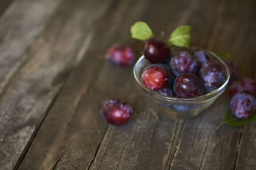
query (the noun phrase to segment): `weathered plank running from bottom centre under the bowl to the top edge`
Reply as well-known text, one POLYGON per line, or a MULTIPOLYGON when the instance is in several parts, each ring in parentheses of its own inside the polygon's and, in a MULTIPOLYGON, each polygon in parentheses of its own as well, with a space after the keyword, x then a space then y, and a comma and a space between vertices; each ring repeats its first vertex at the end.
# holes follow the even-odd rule
MULTIPOLYGON (((173 30, 180 24, 190 24, 194 28, 200 29, 200 31, 194 32, 193 43, 204 47, 213 24, 217 3, 217 1, 191 1, 191 3, 187 3, 185 0, 169 3, 151 1, 143 20, 147 21, 156 34, 160 34, 162 30, 167 34, 170 31, 166 30, 173 30), (201 8, 210 12, 205 15, 201 8), (160 17, 151 15, 152 10, 168 12, 161 13, 160 17), (177 13, 180 14, 180 18, 175 17, 177 13), (198 18, 204 19, 198 20, 198 18), (204 30, 203 28, 208 31, 201 31, 204 30)), ((168 36, 167 34, 166 37, 168 36)), ((145 104, 146 101, 136 89, 135 84, 133 84, 128 88, 127 94, 127 101, 136 103, 134 104, 136 108, 134 119, 122 127, 108 127, 90 169, 170 169, 183 129, 183 121, 170 120, 167 116, 160 115, 161 121, 157 122, 151 114, 150 106, 145 104)))

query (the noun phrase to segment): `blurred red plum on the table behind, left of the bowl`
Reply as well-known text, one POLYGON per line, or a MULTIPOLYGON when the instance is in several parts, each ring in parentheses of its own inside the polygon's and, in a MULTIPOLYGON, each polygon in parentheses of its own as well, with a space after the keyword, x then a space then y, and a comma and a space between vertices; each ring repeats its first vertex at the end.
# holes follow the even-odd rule
POLYGON ((131 65, 135 59, 135 52, 127 45, 115 44, 108 49, 106 58, 114 65, 131 65))

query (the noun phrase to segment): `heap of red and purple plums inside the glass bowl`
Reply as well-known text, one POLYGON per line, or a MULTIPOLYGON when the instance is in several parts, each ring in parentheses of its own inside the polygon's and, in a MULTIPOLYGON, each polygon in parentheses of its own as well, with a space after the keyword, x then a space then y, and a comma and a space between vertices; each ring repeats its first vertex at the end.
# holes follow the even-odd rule
POLYGON ((141 81, 146 88, 163 95, 202 96, 221 87, 227 78, 225 66, 199 49, 172 55, 165 42, 152 38, 145 42, 143 54, 153 65, 145 69, 141 81))

